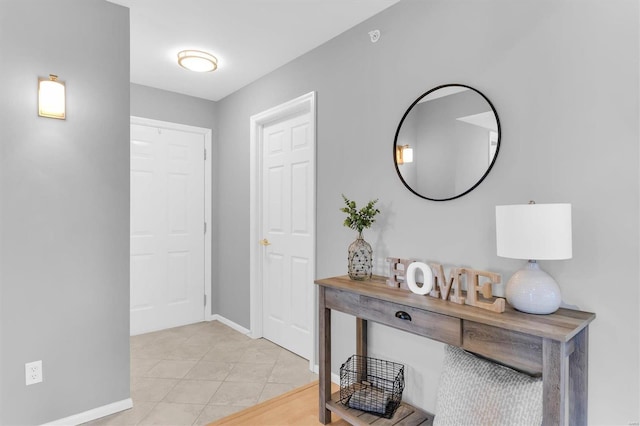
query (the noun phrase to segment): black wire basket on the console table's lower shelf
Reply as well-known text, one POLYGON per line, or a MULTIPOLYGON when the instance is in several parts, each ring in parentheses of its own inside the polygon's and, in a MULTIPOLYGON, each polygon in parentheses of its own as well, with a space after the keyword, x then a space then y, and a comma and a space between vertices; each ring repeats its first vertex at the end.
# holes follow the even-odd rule
POLYGON ((340 402, 390 419, 400 406, 404 365, 352 355, 340 367, 340 402))

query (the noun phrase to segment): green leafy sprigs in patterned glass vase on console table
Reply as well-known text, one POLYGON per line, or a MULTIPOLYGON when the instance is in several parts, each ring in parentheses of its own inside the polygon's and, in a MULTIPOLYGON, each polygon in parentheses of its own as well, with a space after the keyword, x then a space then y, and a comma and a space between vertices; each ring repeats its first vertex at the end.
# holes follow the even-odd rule
POLYGON ((355 201, 349 200, 342 194, 345 207, 340 209, 347 214, 344 226, 358 231, 358 238, 349 245, 348 274, 352 280, 367 280, 371 278, 373 270, 373 250, 371 245, 362 237, 362 231, 368 229, 376 221, 375 216, 380 213, 375 205, 378 199, 371 200, 366 206, 358 210, 355 201))

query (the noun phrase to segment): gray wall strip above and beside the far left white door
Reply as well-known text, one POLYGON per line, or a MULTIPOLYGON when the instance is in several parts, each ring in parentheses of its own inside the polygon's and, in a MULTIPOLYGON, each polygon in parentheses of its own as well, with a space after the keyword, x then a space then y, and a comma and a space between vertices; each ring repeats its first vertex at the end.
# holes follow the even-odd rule
POLYGON ((189 126, 203 127, 211 129, 212 151, 209 153, 213 160, 213 170, 211 179, 212 188, 212 221, 210 224, 209 237, 211 244, 211 313, 218 312, 217 296, 217 272, 218 272, 218 221, 216 212, 218 210, 218 191, 220 176, 218 175, 217 163, 218 154, 218 113, 216 102, 193 96, 182 95, 180 93, 169 92, 154 87, 131 84, 131 115, 135 117, 151 118, 153 120, 168 121, 171 123, 186 124, 189 126))

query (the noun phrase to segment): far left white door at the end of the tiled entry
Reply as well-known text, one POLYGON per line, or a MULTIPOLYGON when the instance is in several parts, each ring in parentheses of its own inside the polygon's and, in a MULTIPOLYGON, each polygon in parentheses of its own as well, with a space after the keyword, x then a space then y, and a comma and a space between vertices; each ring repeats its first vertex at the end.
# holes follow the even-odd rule
POLYGON ((131 124, 131 334, 204 319, 204 136, 131 124))

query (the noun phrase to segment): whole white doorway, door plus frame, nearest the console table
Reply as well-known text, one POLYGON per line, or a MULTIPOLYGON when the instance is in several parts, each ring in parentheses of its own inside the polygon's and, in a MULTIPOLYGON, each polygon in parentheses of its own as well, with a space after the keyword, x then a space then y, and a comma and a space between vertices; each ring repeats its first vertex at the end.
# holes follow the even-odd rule
POLYGON ((251 336, 312 363, 315 92, 251 117, 251 336))

